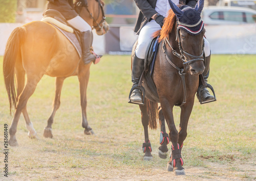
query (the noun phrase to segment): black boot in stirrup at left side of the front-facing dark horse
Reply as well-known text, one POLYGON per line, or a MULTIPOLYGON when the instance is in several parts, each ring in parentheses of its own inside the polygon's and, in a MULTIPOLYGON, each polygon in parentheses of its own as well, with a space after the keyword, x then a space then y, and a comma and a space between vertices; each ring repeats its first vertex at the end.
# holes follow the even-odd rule
MULTIPOLYGON (((144 59, 138 58, 134 53, 132 61, 132 82, 134 86, 139 84, 140 76, 144 70, 144 59)), ((139 89, 134 89, 131 93, 130 100, 135 104, 143 104, 142 92, 139 89)))

